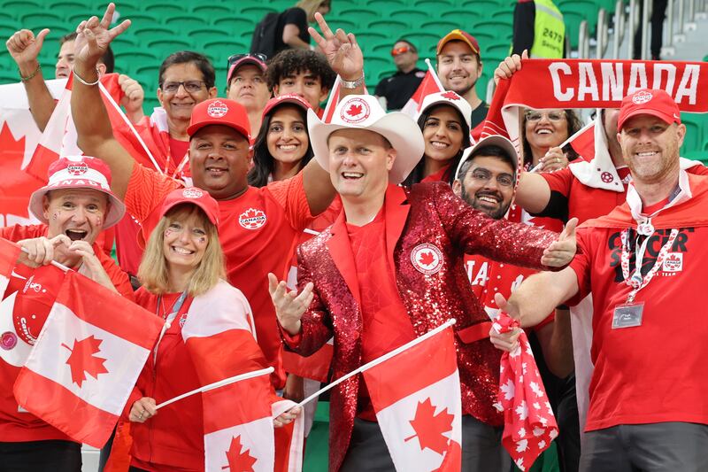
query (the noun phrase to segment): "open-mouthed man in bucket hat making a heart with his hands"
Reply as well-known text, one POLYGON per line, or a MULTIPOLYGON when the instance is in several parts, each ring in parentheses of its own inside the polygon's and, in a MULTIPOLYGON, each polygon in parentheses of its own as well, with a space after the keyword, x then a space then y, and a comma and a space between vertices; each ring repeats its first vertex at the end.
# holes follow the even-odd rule
POLYGON ((133 298, 127 275, 95 244, 125 206, 111 189, 111 171, 99 159, 62 158, 49 182, 30 197, 42 224, 0 228, 23 248, 0 309, 0 460, 9 470, 81 470, 81 445, 18 406, 12 385, 42 330, 61 284, 57 261, 109 290, 133 298), (33 268, 34 267, 34 268, 33 268))

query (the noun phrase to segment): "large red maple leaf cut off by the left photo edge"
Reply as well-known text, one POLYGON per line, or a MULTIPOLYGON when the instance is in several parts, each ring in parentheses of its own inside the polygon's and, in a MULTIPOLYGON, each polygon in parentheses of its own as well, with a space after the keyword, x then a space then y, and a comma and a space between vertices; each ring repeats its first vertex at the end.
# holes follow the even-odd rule
POLYGON ((0 129, 0 213, 27 218, 27 201, 42 182, 21 169, 25 136, 15 139, 7 123, 0 129))

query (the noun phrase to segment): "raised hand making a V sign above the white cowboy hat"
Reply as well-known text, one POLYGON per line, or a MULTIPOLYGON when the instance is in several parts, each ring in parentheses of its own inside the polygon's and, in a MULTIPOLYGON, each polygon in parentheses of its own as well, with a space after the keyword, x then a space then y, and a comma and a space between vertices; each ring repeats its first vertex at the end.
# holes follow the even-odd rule
POLYGON ((345 81, 356 81, 364 74, 364 55, 359 48, 357 38, 352 33, 345 33, 338 28, 335 33, 327 25, 320 13, 315 13, 315 19, 322 30, 319 35, 313 27, 308 28, 310 35, 325 55, 329 66, 345 81))

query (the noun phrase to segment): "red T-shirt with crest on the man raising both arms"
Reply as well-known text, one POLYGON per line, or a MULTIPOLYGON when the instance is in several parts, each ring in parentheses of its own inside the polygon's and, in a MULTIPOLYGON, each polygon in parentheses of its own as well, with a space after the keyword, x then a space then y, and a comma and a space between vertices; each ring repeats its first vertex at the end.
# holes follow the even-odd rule
MULTIPOLYGON (((155 210, 165 195, 180 186, 181 182, 135 165, 125 198, 127 210, 143 226, 154 228, 158 221, 155 210)), ((276 389, 284 384, 285 375, 267 275, 272 272, 281 280, 286 277, 297 238, 311 221, 302 173, 261 189, 249 187, 231 200, 219 200, 219 241, 227 259, 228 282, 249 300, 258 345, 268 365, 275 368, 276 389)))

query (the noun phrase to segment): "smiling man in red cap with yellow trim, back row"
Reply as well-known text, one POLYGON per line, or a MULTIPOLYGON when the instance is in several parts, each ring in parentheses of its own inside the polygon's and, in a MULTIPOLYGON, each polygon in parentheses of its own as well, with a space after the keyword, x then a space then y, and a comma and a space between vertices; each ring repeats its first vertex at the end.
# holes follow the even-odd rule
POLYGON ((472 128, 484 121, 489 109, 475 89, 481 66, 480 43, 466 31, 453 29, 437 43, 437 74, 446 90, 457 92, 472 107, 472 128))

